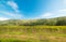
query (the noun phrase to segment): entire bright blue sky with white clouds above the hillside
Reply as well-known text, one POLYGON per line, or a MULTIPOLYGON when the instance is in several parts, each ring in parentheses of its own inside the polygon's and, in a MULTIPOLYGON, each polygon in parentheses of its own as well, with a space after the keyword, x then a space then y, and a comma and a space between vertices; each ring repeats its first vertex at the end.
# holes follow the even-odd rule
POLYGON ((0 0, 0 20, 66 16, 66 0, 0 0))

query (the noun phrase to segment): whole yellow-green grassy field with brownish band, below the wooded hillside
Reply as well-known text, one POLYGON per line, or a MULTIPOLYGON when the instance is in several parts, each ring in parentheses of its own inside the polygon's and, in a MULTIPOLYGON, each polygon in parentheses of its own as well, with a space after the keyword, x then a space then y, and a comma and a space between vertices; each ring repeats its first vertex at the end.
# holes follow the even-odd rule
POLYGON ((0 26, 0 42, 66 42, 66 26, 0 26))

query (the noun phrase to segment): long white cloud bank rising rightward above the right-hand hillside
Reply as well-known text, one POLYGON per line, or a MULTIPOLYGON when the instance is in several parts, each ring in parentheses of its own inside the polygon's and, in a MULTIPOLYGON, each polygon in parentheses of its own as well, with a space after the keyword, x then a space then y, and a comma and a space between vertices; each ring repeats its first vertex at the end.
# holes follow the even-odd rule
POLYGON ((61 16, 66 16, 66 9, 43 13, 35 18, 53 18, 53 17, 61 17, 61 16))

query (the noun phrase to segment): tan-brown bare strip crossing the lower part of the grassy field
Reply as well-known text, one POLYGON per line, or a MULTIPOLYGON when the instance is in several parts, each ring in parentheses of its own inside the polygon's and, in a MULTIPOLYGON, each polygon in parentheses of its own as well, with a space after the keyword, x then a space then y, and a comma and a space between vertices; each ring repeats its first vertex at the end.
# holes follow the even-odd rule
POLYGON ((66 42, 66 37, 55 37, 55 36, 26 36, 26 34, 0 34, 0 39, 18 39, 18 40, 51 40, 57 42, 66 42))

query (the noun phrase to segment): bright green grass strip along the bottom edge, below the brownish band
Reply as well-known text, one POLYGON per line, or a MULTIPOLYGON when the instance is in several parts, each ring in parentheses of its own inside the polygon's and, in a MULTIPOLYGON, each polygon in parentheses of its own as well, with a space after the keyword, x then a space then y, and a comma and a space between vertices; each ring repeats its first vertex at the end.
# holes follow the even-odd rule
POLYGON ((9 40, 0 40, 0 42, 48 42, 48 40, 13 40, 13 39, 9 39, 9 40))

